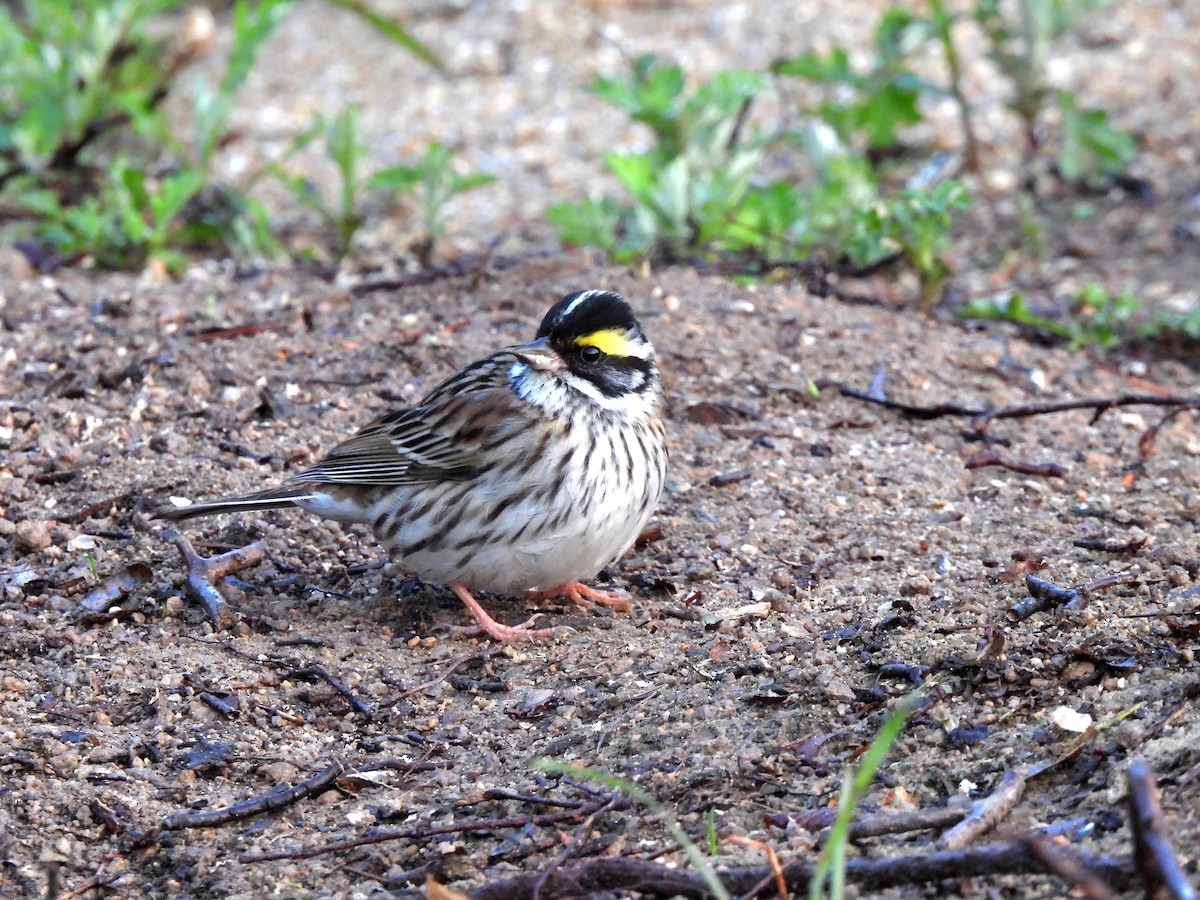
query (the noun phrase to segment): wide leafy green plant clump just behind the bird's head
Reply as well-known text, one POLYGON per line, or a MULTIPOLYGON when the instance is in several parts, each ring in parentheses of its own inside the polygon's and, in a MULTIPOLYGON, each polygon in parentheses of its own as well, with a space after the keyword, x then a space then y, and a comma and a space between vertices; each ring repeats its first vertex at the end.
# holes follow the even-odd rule
POLYGON ((899 254, 917 271, 923 294, 934 295, 949 271, 942 252, 950 214, 965 205, 966 192, 947 185, 928 196, 887 197, 866 155, 919 118, 917 100, 928 86, 905 60, 926 32, 893 10, 880 23, 877 60, 868 71, 852 68, 839 49, 778 64, 776 73, 848 86, 852 96, 817 104, 817 120, 803 130, 749 137, 742 131, 763 74, 725 72, 689 91, 678 66, 643 56, 629 76, 594 85, 654 138, 648 151, 606 157, 632 203, 590 198, 558 204, 547 216, 565 241, 602 247, 626 263, 822 254, 863 265, 899 254), (797 157, 812 178, 763 178, 768 152, 776 163, 797 157))

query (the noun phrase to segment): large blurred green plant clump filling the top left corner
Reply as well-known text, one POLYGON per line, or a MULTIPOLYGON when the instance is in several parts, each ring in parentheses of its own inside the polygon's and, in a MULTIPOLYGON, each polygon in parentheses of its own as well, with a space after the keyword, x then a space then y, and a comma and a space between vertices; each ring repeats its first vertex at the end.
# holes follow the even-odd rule
MULTIPOLYGON (((361 0, 350 8, 413 53, 428 52, 361 0)), ((179 0, 25 0, 0 6, 0 193, 67 259, 179 268, 191 248, 242 256, 278 248, 245 185, 223 185, 214 157, 228 140, 235 95, 295 0, 238 0, 221 78, 198 79, 186 137, 163 100, 203 56, 215 23, 199 8, 170 42, 150 38, 154 17, 179 0)))

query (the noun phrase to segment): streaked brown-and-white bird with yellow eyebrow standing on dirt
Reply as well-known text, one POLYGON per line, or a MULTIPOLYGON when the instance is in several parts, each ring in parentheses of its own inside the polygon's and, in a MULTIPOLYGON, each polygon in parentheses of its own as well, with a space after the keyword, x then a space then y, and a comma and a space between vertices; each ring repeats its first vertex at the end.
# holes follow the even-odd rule
POLYGON ((283 484, 173 498, 156 516, 296 506, 364 523, 402 569, 450 587, 473 630, 505 642, 556 630, 533 628, 538 616, 502 624, 476 592, 631 608, 584 582, 634 545, 666 468, 654 347, 620 294, 592 289, 553 304, 533 341, 472 362, 283 484))

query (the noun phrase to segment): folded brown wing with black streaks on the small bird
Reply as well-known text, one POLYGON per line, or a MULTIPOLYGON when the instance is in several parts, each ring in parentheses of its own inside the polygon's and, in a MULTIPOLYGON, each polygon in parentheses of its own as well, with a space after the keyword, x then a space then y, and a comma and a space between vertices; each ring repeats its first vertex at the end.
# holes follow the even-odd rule
POLYGON ((511 361, 504 352, 480 360, 415 407, 368 422, 292 480, 410 485, 474 476, 481 466, 480 445, 514 414, 524 418, 508 386, 511 361))

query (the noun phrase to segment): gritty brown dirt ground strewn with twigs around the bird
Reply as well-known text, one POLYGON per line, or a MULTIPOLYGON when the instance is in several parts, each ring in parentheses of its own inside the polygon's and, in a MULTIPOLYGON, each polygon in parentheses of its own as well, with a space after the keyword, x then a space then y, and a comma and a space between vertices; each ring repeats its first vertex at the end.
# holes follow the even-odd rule
MULTIPOLYGON (((701 7, 598 4, 578 30, 605 44, 596 35, 612 19, 640 50, 650 25, 673 23, 689 40, 700 29, 714 47, 743 46, 732 25, 706 30, 715 13, 701 7)), ((1182 4, 1118 10, 1094 30, 1133 29, 1121 48, 1162 37, 1151 66, 1186 59, 1172 54, 1200 34, 1182 4)), ((312 14, 302 7, 287 28, 312 14)), ((482 14, 464 7, 442 28, 497 26, 482 14)), ((523 65, 550 50, 522 14, 533 16, 505 13, 503 65, 462 76, 468 88, 548 80, 523 65)), ((292 44, 278 47, 287 58, 292 44)), ((1064 65, 1093 53, 1069 47, 1064 65)), ((563 47, 550 54, 568 56, 581 65, 563 47)), ((746 61, 731 52, 721 65, 746 61)), ((281 65, 275 78, 288 72, 302 74, 281 65)), ((1147 91, 1162 86, 1156 72, 1147 91)), ((1195 82, 1180 77, 1177 91, 1195 82)), ((582 80, 570 84, 582 97, 582 80)), ((1195 304, 1195 244, 1178 236, 1195 218, 1195 169, 1178 163, 1194 154, 1180 122, 1190 109, 1194 124, 1198 107, 1171 96, 1182 106, 1164 100, 1160 119, 1139 126, 1157 203, 1090 198, 1082 226, 1051 215, 1054 262, 998 275, 962 258, 958 283, 1120 278, 1164 304, 1195 304)), ((558 139, 574 156, 564 134, 581 127, 539 131, 529 155, 548 158, 558 139)), ((582 190, 586 175, 574 184, 582 190)), ((463 246, 521 210, 492 215, 463 246)), ((544 234, 528 228, 527 248, 544 234)), ((402 896, 430 876, 529 896, 532 881, 502 882, 600 858, 688 866, 644 806, 535 768, 542 758, 635 782, 706 852, 712 829, 812 859, 817 834, 764 817, 834 804, 917 684, 924 700, 864 814, 968 803, 1025 773, 1006 828, 1049 828, 1063 846, 1127 859, 1126 773, 1141 757, 1196 878, 1195 413, 1170 418, 1152 442, 1163 410, 1147 406, 997 420, 990 449, 1026 470, 970 468, 985 445, 968 419, 919 419, 836 386, 865 390, 883 373, 890 398, 972 408, 1187 394, 1193 358, 1068 352, 799 284, 684 269, 635 276, 582 252, 390 289, 361 270, 328 281, 199 262, 163 283, 5 266, 0 896, 402 896), (457 637, 462 605, 407 578, 366 532, 265 512, 182 529, 205 554, 265 548, 217 582, 233 622, 214 626, 150 510, 286 478, 455 368, 528 340, 553 300, 587 287, 616 288, 642 313, 668 394, 658 528, 602 578, 632 595, 632 614, 548 604, 538 607, 546 622, 571 634, 508 646, 457 637), (1069 606, 1014 612, 1031 574, 1092 589, 1069 606), (287 785, 305 790, 233 821, 203 818, 287 785)), ((883 276, 859 287, 890 296, 904 286, 883 276)), ((511 598, 484 600, 504 622, 530 613, 511 598)), ((920 832, 863 839, 852 853, 936 846, 920 832)), ((722 841, 712 862, 762 866, 764 856, 722 841)), ((541 896, 565 892, 546 886, 541 896)), ((1050 876, 1003 875, 860 895, 1063 893, 1050 876)))

